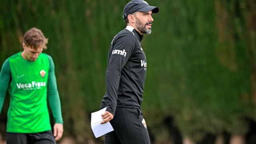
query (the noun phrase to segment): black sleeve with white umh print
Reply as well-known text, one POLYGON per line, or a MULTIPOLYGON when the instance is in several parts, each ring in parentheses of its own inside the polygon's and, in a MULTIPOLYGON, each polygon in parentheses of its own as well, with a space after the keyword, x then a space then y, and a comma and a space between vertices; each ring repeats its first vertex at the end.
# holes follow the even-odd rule
POLYGON ((136 38, 130 34, 116 37, 112 41, 112 47, 110 47, 108 68, 106 70, 106 94, 108 96, 106 111, 113 115, 116 111, 121 71, 132 56, 136 45, 136 38))

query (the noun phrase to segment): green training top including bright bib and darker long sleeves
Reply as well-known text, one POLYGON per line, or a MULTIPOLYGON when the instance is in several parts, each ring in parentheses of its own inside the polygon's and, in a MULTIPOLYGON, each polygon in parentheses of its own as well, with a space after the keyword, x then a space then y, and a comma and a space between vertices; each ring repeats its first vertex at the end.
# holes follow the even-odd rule
POLYGON ((34 62, 21 52, 10 56, 0 72, 0 112, 10 92, 7 132, 36 133, 51 130, 47 99, 56 123, 63 124, 52 58, 41 53, 34 62))

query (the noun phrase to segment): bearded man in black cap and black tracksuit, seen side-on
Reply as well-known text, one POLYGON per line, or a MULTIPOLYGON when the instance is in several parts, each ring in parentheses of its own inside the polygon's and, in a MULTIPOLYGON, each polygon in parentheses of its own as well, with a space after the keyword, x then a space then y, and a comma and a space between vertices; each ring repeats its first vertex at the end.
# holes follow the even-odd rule
POLYGON ((141 111, 147 61, 140 42, 151 33, 152 13, 158 11, 144 0, 132 0, 124 7, 127 26, 114 37, 108 53, 102 124, 111 120, 114 131, 105 135, 105 144, 150 144, 141 111))

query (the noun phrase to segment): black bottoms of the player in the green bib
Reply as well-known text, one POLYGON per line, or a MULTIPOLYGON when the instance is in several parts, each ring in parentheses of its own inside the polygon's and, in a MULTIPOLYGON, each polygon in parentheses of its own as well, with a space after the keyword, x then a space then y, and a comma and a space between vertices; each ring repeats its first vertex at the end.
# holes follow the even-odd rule
POLYGON ((52 131, 33 134, 7 132, 7 144, 56 144, 52 131))

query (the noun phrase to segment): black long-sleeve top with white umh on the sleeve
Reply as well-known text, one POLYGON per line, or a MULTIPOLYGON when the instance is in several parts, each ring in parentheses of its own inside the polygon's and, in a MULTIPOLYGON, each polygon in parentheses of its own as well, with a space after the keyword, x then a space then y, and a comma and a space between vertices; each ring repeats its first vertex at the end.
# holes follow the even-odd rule
POLYGON ((147 70, 146 55, 140 45, 142 39, 143 35, 127 26, 110 44, 102 104, 113 115, 116 106, 141 109, 147 70))

